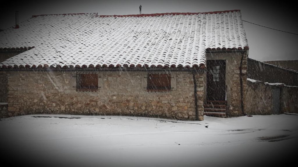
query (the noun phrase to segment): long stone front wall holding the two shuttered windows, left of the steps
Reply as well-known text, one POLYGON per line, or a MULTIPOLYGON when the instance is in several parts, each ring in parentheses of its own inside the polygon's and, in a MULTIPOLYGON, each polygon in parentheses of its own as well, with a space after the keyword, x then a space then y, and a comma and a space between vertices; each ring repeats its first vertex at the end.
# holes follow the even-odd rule
MULTIPOLYGON (((77 92, 75 72, 10 71, 8 112, 154 116, 195 120, 192 72, 171 72, 174 89, 148 92, 147 72, 97 72, 100 90, 77 92)), ((158 73, 158 72, 156 72, 158 73)), ((196 73, 198 117, 203 120, 204 74, 196 73)))

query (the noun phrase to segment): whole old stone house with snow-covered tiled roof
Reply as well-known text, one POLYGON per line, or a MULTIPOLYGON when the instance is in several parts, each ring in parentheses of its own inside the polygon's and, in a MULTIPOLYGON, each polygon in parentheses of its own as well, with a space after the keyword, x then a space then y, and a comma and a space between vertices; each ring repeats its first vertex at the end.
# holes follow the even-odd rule
POLYGON ((203 120, 246 109, 240 10, 38 15, 0 32, 1 117, 203 120))

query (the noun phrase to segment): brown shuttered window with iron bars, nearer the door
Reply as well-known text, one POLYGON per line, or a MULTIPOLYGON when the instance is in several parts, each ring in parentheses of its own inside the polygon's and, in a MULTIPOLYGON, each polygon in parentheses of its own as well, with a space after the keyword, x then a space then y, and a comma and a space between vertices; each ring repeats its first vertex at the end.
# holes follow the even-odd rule
POLYGON ((171 90, 171 75, 170 74, 148 74, 147 90, 162 92, 171 90))

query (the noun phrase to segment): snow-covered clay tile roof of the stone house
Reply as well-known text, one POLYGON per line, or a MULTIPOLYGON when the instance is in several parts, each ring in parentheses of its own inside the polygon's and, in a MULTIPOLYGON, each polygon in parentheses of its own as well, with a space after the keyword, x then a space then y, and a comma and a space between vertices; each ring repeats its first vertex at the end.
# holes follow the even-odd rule
POLYGON ((38 15, 0 32, 0 50, 32 48, 6 67, 194 67, 206 50, 248 49, 240 10, 98 16, 38 15))

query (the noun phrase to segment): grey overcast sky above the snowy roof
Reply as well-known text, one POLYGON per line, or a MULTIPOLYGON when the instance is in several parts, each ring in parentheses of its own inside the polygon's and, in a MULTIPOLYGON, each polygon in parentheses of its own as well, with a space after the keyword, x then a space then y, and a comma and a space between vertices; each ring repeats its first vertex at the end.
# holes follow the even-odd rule
MULTIPOLYGON (((0 29, 15 25, 15 10, 19 11, 19 23, 40 14, 91 13, 99 15, 127 15, 164 12, 209 12, 240 9, 242 19, 274 29, 298 34, 296 1, 190 1, 190 0, 139 0, 139 1, 1 1, 0 29), (16 4, 15 4, 16 3, 16 4)), ((288 34, 244 23, 249 57, 260 61, 298 59, 298 35, 288 34)))

